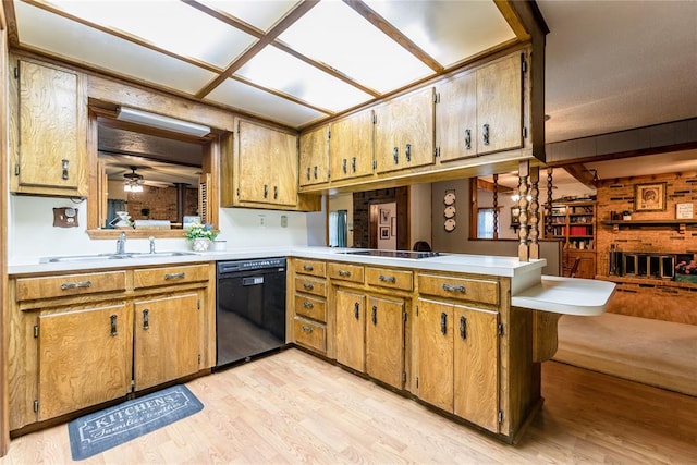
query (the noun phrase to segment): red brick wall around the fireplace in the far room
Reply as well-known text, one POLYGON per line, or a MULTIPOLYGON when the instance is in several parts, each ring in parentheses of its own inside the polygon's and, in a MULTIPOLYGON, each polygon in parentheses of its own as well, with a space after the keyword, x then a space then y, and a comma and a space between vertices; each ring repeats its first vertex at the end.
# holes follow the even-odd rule
POLYGON ((687 227, 684 234, 677 225, 612 227, 602 224, 610 212, 629 210, 632 220, 674 220, 677 204, 692 203, 697 219, 697 173, 671 173, 650 176, 608 180, 598 186, 598 274, 608 274, 610 245, 622 252, 648 252, 668 254, 697 254, 697 228, 687 227), (635 211, 634 195, 637 184, 665 182, 665 210, 635 211))

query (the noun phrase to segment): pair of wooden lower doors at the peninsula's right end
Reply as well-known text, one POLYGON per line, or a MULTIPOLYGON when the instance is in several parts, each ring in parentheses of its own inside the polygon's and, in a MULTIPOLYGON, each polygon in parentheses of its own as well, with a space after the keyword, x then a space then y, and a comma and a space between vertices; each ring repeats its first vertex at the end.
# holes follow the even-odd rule
POLYGON ((419 298, 417 320, 418 397, 498 432, 498 313, 419 298))

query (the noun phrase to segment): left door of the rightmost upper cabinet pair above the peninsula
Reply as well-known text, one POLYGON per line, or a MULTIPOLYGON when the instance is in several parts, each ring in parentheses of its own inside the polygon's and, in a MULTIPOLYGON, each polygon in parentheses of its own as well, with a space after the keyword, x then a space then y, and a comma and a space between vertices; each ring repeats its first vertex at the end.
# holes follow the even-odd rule
POLYGON ((440 161, 477 156, 477 77, 455 76, 437 90, 436 146, 440 161))

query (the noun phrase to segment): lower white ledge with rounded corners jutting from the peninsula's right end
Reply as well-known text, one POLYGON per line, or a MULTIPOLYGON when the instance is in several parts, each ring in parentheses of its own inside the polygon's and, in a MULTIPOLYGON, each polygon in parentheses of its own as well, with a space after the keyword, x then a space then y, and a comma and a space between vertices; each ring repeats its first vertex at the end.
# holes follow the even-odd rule
POLYGON ((614 287, 609 281, 543 276, 539 284, 513 295, 511 305, 564 315, 600 315, 614 287))

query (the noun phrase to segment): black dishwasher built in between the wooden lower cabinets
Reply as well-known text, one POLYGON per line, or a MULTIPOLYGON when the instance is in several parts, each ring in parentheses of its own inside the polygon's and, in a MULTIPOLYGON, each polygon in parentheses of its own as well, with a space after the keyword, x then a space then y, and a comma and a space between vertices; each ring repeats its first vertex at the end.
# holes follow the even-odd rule
POLYGON ((216 368, 285 345, 285 258, 219 261, 216 368))

